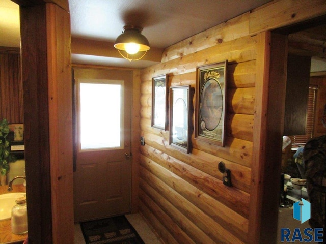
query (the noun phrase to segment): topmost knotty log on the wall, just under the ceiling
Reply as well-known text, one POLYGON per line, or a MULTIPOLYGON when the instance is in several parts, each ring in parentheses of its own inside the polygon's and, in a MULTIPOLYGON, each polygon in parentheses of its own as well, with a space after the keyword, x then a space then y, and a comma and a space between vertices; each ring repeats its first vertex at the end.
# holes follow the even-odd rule
POLYGON ((162 63, 249 34, 249 13, 242 14, 165 49, 162 63))

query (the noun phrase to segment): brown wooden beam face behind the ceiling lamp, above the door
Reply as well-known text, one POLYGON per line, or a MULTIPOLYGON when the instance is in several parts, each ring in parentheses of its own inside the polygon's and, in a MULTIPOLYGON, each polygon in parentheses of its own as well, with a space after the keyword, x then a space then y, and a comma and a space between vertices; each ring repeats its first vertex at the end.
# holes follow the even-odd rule
MULTIPOLYGON (((85 54, 103 57, 123 58, 118 50, 113 46, 113 42, 89 40, 83 38, 71 39, 71 53, 85 54)), ((151 47, 142 58, 144 61, 160 62, 164 49, 151 47)))

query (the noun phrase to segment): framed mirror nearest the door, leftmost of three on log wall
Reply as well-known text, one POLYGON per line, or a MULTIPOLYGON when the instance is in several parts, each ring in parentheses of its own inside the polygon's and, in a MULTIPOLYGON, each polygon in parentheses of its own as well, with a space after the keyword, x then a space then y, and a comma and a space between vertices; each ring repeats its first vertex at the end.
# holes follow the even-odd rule
POLYGON ((168 126, 168 76, 152 78, 152 127, 167 130, 168 126))

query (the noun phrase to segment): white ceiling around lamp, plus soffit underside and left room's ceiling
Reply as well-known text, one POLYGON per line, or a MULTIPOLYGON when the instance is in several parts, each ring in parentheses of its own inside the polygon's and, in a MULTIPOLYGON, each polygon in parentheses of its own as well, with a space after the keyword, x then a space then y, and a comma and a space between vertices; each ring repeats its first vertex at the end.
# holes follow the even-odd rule
MULTIPOLYGON (((166 48, 270 0, 69 0, 71 35, 114 42, 124 25, 143 27, 151 47, 166 48)), ((0 46, 19 47, 19 8, 0 0, 0 46)), ((72 55, 73 63, 143 68, 155 62, 72 55)))

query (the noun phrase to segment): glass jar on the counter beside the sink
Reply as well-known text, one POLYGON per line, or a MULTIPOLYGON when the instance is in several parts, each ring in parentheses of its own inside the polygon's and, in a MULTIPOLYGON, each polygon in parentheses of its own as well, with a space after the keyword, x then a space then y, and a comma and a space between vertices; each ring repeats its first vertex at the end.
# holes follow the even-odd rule
POLYGON ((26 197, 16 199, 16 205, 11 211, 11 231, 14 234, 24 234, 27 232, 27 204, 26 197))

